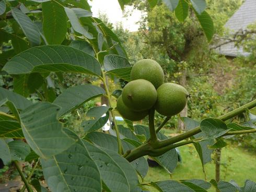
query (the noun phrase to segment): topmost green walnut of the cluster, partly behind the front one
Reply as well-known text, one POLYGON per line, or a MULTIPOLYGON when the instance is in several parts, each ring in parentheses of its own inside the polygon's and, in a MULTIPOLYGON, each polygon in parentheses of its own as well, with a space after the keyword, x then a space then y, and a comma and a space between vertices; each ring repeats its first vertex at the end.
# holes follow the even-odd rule
POLYGON ((145 79, 151 82, 157 89, 164 83, 164 71, 161 66, 152 59, 142 59, 134 64, 131 71, 131 79, 145 79))

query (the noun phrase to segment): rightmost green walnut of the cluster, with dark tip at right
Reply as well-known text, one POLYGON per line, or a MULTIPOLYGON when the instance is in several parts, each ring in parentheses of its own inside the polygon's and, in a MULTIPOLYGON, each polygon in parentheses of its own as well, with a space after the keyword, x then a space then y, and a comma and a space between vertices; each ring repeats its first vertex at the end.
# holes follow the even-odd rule
POLYGON ((156 111, 164 116, 173 116, 180 113, 187 104, 188 91, 176 84, 165 83, 157 89, 156 111))

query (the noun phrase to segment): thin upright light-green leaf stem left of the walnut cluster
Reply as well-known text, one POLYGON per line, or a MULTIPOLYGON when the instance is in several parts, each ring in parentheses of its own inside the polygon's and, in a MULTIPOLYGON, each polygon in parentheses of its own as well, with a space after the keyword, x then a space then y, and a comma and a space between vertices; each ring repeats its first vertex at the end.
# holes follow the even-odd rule
MULTIPOLYGON (((108 98, 108 101, 109 101, 109 106, 112 107, 110 93, 109 93, 108 85, 107 85, 107 82, 106 82, 106 77, 105 77, 104 71, 102 69, 101 69, 101 74, 102 74, 101 80, 103 81, 103 84, 104 84, 104 88, 105 88, 107 98, 108 98)), ((119 130, 118 130, 118 124, 117 124, 117 121, 115 120, 115 115, 114 115, 113 110, 111 110, 110 113, 111 113, 111 117, 112 117, 113 122, 114 122, 115 133, 117 134, 118 153, 122 155, 123 154, 123 146, 122 146, 122 141, 121 141, 119 130)))

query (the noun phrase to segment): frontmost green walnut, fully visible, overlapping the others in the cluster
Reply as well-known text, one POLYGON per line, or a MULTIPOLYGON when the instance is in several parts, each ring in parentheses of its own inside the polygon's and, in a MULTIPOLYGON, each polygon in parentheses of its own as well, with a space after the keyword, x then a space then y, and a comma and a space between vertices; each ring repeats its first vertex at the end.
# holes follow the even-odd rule
POLYGON ((149 81, 137 79, 127 83, 123 88, 122 99, 131 110, 145 111, 156 103, 157 92, 149 81))

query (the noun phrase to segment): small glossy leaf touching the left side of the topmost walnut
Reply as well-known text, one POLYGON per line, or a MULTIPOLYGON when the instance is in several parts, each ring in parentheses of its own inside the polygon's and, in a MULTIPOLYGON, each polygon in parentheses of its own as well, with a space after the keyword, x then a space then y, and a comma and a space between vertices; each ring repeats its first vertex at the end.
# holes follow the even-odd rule
POLYGON ((106 55, 104 68, 107 73, 118 76, 126 81, 131 81, 132 67, 125 57, 119 55, 106 55))

